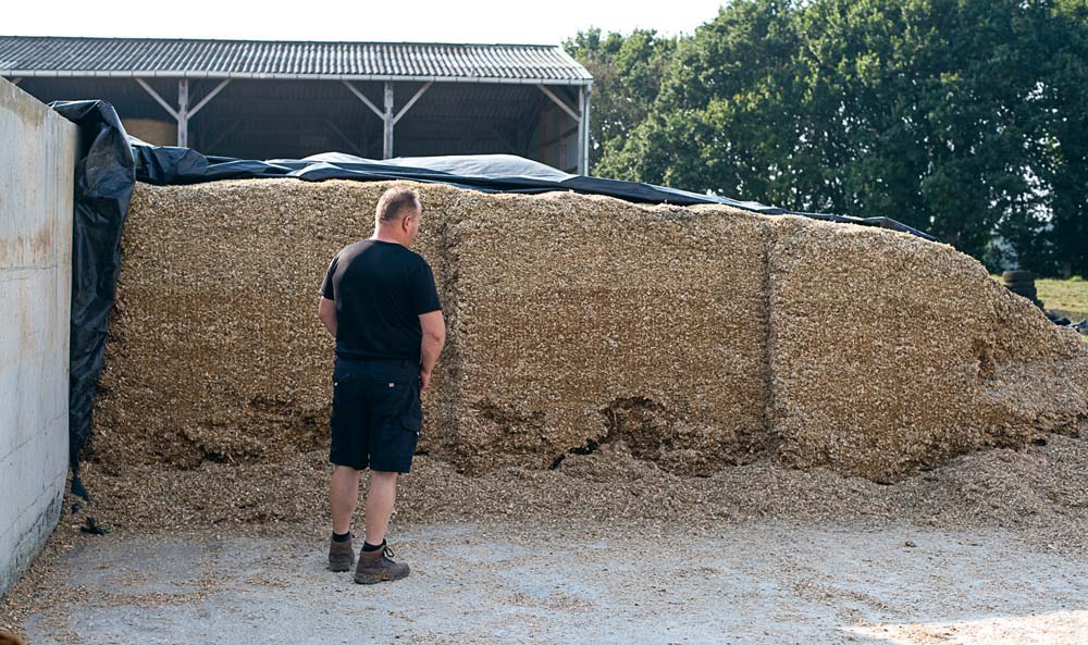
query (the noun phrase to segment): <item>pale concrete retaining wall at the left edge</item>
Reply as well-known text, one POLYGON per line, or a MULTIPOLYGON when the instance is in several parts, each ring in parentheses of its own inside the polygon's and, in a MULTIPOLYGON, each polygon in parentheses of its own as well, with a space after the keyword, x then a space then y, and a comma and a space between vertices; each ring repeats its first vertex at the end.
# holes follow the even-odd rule
POLYGON ((0 78, 0 594, 61 510, 77 136, 0 78))

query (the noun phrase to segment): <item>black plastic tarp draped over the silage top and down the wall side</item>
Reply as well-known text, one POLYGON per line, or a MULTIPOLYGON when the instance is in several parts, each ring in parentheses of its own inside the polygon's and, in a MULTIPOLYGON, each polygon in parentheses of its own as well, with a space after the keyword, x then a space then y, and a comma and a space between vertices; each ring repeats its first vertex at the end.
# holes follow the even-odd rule
POLYGON ((81 150, 75 172, 72 231, 72 321, 69 396, 72 491, 87 497, 79 481, 79 454, 91 434, 91 410, 106 352, 110 311, 121 269, 121 233, 136 181, 196 184, 218 179, 296 177, 324 179, 410 179, 486 193, 539 194, 571 190, 641 203, 722 203, 763 214, 880 226, 932 236, 887 218, 800 213, 753 201, 700 195, 650 184, 571 175, 506 154, 416 157, 373 161, 331 152, 306 159, 254 161, 208 157, 189 148, 152 146, 128 137, 116 111, 104 101, 54 101, 50 107, 76 123, 81 150))

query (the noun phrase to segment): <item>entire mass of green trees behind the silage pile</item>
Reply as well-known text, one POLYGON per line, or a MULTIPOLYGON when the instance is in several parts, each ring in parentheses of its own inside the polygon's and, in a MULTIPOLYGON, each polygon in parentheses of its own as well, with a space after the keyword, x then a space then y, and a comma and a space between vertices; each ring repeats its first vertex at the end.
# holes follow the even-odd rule
POLYGON ((1088 0, 733 0, 591 29, 593 174, 887 215, 1088 277, 1088 0))

